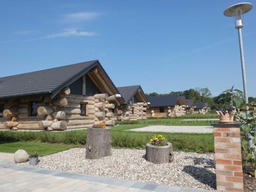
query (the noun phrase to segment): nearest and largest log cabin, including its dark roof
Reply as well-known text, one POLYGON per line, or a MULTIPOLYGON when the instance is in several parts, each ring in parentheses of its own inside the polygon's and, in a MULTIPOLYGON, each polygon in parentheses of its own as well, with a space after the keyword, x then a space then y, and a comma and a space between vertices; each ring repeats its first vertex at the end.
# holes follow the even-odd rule
POLYGON ((114 125, 124 103, 98 60, 0 78, 0 129, 59 131, 114 125))

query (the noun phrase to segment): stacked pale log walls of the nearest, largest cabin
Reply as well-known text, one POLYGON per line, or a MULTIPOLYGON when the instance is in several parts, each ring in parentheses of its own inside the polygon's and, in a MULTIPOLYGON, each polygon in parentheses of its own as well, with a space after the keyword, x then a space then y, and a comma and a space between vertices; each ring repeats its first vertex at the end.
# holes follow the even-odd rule
POLYGON ((4 104, 0 129, 5 130, 46 130, 61 131, 81 127, 91 127, 95 122, 104 121, 113 126, 115 120, 116 95, 95 94, 82 96, 70 94, 63 89, 57 96, 37 96, 16 100, 0 101, 4 104), (31 102, 36 102, 36 115, 31 116, 31 102), (84 105, 84 108, 81 108, 84 105), (83 110, 83 113, 81 113, 83 110))

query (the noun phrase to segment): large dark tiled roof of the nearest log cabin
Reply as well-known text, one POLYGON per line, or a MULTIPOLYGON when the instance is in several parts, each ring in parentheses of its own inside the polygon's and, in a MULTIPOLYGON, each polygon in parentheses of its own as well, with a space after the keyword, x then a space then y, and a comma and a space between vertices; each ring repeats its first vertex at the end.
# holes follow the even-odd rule
MULTIPOLYGON (((92 60, 69 66, 1 77, 0 98, 37 94, 50 94, 54 96, 61 89, 65 88, 97 65, 102 68, 98 60, 92 60)), ((108 76, 108 74, 106 75, 108 76)))

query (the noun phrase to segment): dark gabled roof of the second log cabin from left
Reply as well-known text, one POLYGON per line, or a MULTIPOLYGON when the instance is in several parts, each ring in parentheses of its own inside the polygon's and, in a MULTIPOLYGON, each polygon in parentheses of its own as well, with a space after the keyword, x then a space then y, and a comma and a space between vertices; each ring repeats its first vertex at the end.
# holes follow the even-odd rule
POLYGON ((142 94, 146 99, 146 96, 140 86, 119 87, 117 88, 117 90, 123 97, 125 104, 129 103, 132 100, 133 96, 138 92, 138 90, 141 90, 142 94))

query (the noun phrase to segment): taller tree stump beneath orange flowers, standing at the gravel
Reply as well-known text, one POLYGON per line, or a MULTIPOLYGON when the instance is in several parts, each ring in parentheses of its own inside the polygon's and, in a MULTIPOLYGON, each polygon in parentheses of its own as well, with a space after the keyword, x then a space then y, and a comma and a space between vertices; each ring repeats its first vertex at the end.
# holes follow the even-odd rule
POLYGON ((109 128, 88 128, 86 159, 99 159, 111 155, 111 132, 109 128))

